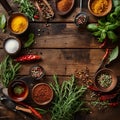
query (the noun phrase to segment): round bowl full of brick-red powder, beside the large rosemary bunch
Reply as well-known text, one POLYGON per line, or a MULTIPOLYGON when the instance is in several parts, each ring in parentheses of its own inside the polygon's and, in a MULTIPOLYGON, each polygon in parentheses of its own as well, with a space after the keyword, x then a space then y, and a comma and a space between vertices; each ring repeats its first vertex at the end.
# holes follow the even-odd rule
POLYGON ((32 99, 38 105, 47 105, 53 99, 53 90, 47 83, 38 83, 32 89, 32 99))

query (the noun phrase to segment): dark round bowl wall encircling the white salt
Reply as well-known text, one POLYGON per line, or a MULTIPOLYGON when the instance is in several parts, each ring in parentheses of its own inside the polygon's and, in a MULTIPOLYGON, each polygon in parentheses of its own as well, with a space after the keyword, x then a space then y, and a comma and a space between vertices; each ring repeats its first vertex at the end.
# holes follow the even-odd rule
MULTIPOLYGON (((10 46, 12 47, 12 45, 10 45, 10 46)), ((3 48, 4 48, 5 52, 6 52, 7 54, 9 54, 9 55, 12 55, 12 56, 17 55, 17 54, 20 52, 21 47, 22 47, 22 46, 21 46, 21 41, 20 41, 18 38, 13 37, 13 36, 5 39, 4 42, 3 42, 3 48), (13 39, 13 40, 16 40, 16 41, 18 42, 18 44, 19 44, 19 47, 18 47, 17 51, 15 51, 15 52, 9 52, 9 51, 5 48, 7 42, 8 42, 9 40, 12 40, 12 39, 13 39)), ((14 49, 14 48, 12 48, 12 49, 14 49)))

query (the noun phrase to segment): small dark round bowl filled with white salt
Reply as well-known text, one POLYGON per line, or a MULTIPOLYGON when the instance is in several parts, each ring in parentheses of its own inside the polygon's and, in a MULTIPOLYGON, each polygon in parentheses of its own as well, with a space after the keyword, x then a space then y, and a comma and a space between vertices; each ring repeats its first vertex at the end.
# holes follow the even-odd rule
POLYGON ((4 40, 3 48, 9 55, 16 55, 21 50, 21 41, 16 37, 9 37, 4 40))

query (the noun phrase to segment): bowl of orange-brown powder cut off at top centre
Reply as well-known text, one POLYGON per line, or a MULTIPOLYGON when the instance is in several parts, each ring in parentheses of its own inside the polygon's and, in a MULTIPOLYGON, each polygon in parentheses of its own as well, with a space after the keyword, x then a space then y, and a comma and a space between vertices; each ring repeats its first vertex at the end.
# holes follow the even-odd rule
POLYGON ((57 0, 56 2, 56 10, 59 15, 66 15, 68 14, 73 6, 75 0, 57 0))

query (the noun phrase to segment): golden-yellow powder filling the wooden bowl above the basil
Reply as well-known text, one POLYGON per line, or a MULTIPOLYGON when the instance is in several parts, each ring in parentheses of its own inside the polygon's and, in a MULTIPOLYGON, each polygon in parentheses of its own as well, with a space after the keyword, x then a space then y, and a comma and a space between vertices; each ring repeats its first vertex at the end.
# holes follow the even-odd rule
POLYGON ((91 9, 94 13, 101 14, 107 10, 108 4, 108 0, 94 0, 91 4, 91 9))

